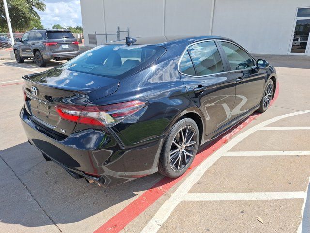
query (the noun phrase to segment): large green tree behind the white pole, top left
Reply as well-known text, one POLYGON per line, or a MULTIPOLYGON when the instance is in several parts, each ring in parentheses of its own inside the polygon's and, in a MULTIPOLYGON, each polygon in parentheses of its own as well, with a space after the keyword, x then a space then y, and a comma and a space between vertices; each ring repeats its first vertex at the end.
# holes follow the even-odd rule
MULTIPOLYGON (((24 32, 43 28, 40 16, 34 10, 45 10, 43 0, 8 0, 7 3, 13 31, 24 32)), ((3 1, 0 0, 0 32, 8 31, 3 1)))

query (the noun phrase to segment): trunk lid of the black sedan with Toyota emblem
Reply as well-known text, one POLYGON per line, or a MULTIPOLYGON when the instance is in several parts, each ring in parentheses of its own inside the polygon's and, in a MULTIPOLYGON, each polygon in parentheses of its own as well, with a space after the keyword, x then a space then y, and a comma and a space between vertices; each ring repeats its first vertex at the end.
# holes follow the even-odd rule
POLYGON ((62 119, 56 106, 86 106, 114 93, 119 85, 117 79, 59 68, 23 79, 25 107, 31 119, 64 135, 70 135, 76 123, 62 119))

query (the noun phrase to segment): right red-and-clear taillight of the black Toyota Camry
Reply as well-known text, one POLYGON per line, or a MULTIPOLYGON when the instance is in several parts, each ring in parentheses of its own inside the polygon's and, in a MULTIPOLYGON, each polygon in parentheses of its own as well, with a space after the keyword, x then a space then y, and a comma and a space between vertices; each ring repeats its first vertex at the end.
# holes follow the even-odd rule
POLYGON ((88 125, 113 126, 146 106, 147 101, 134 100, 105 106, 57 105, 62 119, 88 125))

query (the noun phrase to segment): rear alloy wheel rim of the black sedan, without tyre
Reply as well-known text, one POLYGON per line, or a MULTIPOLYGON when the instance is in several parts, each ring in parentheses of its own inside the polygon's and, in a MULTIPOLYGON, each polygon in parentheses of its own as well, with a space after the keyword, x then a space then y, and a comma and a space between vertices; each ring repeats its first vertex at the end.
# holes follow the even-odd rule
POLYGON ((197 144, 196 132, 193 127, 183 127, 174 137, 170 148, 170 166, 174 171, 181 171, 193 158, 197 144))

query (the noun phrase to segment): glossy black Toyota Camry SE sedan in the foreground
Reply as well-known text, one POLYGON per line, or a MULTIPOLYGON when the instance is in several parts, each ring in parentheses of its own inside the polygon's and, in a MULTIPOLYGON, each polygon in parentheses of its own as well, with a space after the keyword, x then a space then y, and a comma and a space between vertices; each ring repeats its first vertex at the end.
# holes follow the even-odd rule
POLYGON ((269 107, 276 71, 219 36, 129 38, 23 77, 28 141, 74 178, 175 178, 199 145, 269 107))

